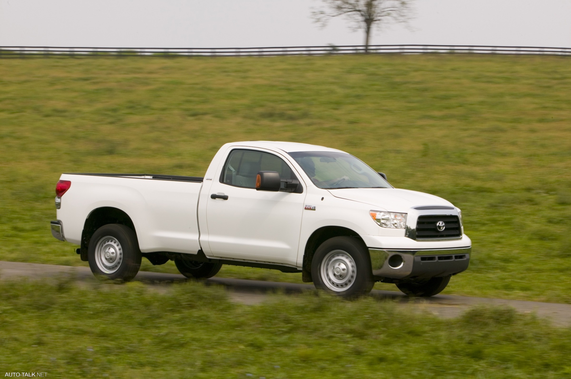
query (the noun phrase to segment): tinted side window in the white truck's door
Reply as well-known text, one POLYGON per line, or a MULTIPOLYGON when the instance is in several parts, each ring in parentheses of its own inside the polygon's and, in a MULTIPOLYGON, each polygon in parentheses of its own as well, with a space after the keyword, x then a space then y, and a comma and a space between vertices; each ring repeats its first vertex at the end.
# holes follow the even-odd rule
MULTIPOLYGON (((274 154, 236 149, 230 152, 220 181, 231 186, 256 188, 259 171, 277 171, 282 179, 297 179, 288 164, 274 154)), ((285 184, 282 187, 285 188, 285 184)))

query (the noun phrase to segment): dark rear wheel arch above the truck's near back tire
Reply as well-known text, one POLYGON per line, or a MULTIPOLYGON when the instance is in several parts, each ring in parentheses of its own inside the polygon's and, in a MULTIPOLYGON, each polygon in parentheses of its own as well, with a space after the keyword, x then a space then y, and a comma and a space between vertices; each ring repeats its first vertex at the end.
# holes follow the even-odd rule
POLYGON ((107 224, 121 224, 134 231, 135 235, 137 234, 131 217, 124 210, 108 206, 96 208, 91 211, 83 223, 80 247, 81 260, 87 261, 87 248, 91 236, 97 229, 107 224))

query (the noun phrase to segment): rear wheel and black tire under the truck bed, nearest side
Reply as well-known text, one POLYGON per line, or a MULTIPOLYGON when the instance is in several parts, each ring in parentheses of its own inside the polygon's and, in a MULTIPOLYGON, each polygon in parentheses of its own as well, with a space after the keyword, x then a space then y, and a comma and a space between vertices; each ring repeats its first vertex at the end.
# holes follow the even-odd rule
POLYGON ((137 236, 125 225, 103 225, 91 236, 87 258, 95 276, 128 282, 141 266, 137 236))

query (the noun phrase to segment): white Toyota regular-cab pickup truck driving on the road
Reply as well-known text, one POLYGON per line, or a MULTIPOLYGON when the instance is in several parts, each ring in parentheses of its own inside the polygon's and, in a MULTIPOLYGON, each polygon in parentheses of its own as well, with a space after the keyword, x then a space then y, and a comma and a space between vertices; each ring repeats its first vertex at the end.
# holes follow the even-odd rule
POLYGON ((130 280, 142 257, 188 278, 222 264, 301 272, 353 297, 375 282, 432 296, 468 268, 460 209, 393 188, 341 150, 292 142, 226 144, 204 178, 62 174, 55 238, 81 246, 91 271, 130 280))

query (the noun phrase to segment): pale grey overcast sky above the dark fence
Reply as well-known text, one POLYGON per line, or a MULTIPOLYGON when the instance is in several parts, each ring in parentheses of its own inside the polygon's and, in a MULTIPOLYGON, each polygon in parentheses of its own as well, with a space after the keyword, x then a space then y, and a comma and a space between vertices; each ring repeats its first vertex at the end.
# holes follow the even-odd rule
MULTIPOLYGON (((0 0, 0 46, 252 47, 361 44, 319 0, 0 0)), ((571 47, 571 0, 416 0, 411 28, 373 44, 571 47)))

